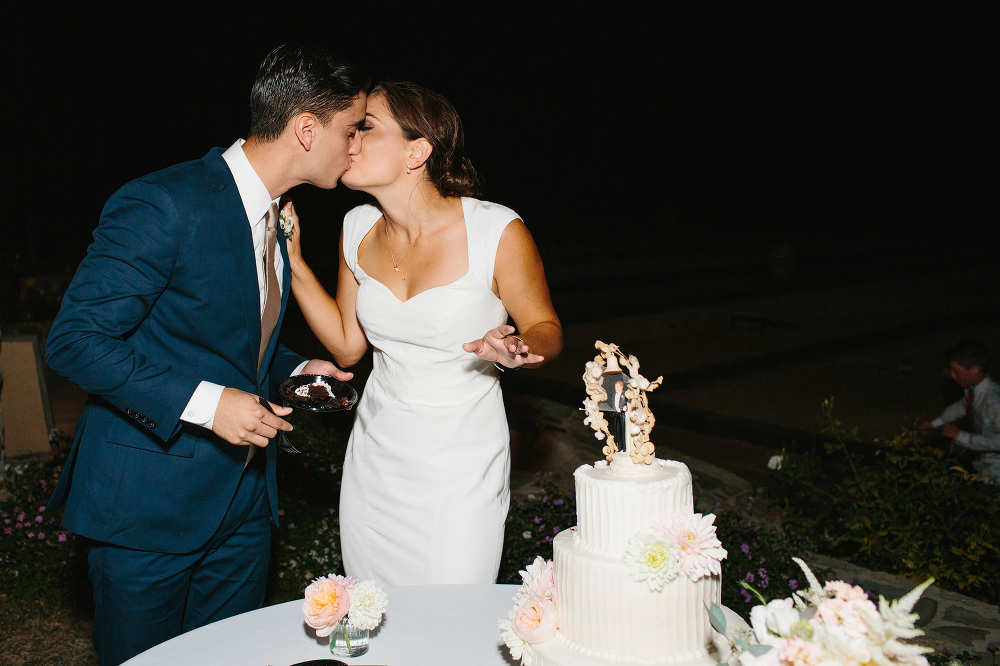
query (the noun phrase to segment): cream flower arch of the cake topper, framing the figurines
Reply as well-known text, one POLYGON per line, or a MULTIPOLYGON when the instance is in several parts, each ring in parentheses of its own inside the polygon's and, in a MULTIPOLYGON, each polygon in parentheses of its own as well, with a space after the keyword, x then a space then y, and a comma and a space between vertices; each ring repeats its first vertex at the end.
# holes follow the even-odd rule
MULTIPOLYGON (((593 361, 587 362, 583 373, 583 383, 587 387, 587 399, 583 401, 583 409, 587 416, 583 419, 583 423, 594 430, 594 437, 597 439, 607 437, 608 443, 603 453, 607 456, 608 462, 611 462, 611 456, 622 449, 618 446, 621 443, 615 442, 608 421, 601 413, 600 402, 608 399, 608 392, 604 389, 602 379, 606 370, 617 372, 620 362, 629 374, 628 388, 625 390, 625 397, 628 399, 625 415, 632 447, 628 453, 633 463, 649 465, 655 455, 653 443, 649 441, 649 433, 653 430, 656 419, 649 410, 649 398, 646 393, 655 390, 663 383, 663 377, 658 377, 653 382, 643 377, 639 374, 639 359, 635 356, 626 357, 614 343, 605 344, 598 340, 594 346, 601 353, 595 356, 593 361)), ((622 446, 624 447, 624 444, 622 446)))

